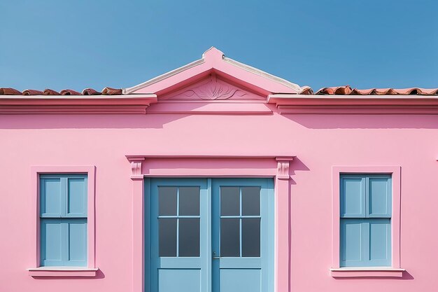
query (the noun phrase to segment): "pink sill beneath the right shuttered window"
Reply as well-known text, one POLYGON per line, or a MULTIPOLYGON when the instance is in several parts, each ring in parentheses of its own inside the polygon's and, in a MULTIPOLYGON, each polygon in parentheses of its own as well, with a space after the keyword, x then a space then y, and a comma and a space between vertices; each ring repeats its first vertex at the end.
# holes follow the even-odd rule
POLYGON ((338 267, 331 268, 330 275, 334 278, 348 277, 403 277, 404 269, 394 267, 338 267))

